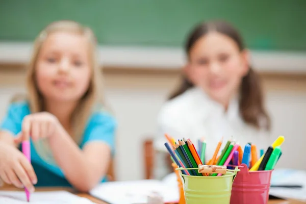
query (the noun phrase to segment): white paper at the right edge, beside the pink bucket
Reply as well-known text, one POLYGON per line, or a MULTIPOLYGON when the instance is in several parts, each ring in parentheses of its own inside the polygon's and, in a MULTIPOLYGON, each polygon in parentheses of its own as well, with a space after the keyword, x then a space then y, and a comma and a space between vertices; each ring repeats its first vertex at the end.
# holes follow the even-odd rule
POLYGON ((292 198, 306 201, 306 171, 294 169, 275 169, 272 172, 271 185, 301 185, 302 188, 270 188, 269 194, 280 198, 292 198))

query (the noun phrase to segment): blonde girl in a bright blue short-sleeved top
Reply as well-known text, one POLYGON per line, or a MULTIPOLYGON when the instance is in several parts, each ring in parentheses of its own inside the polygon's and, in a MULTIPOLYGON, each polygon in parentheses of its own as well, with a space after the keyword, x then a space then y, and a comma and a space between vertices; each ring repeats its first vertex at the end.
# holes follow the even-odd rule
POLYGON ((35 186, 89 191, 105 181, 115 119, 101 103, 101 72, 92 31, 73 21, 49 24, 37 37, 27 74, 28 97, 12 103, 0 126, 0 177, 35 186), (32 164, 19 150, 31 142, 32 164))

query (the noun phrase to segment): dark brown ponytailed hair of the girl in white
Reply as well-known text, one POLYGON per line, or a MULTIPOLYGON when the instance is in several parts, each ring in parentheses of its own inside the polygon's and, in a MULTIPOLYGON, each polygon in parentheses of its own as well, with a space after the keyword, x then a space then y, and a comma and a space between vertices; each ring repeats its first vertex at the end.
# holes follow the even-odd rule
MULTIPOLYGON (((210 21, 198 24, 189 34, 185 44, 187 57, 189 57, 190 50, 197 40, 211 31, 232 38, 237 43, 240 51, 245 49, 242 37, 231 24, 225 21, 210 21)), ((181 95, 193 86, 186 76, 183 76, 181 86, 170 95, 169 99, 181 95)), ((240 85, 239 111, 246 123, 257 129, 264 127, 264 129, 270 130, 270 118, 263 105, 260 77, 251 67, 249 67, 249 71, 243 77, 240 85)))

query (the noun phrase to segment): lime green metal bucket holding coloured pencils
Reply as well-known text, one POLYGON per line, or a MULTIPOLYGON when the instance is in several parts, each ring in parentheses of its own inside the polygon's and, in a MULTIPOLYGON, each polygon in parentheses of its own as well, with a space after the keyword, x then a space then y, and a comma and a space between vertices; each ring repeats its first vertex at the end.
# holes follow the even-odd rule
MULTIPOLYGON (((178 168, 185 170, 185 168, 178 168)), ((186 168, 197 169, 198 168, 186 168)), ((239 169, 227 170, 221 176, 193 176, 182 174, 186 204, 230 204, 233 180, 239 169)))

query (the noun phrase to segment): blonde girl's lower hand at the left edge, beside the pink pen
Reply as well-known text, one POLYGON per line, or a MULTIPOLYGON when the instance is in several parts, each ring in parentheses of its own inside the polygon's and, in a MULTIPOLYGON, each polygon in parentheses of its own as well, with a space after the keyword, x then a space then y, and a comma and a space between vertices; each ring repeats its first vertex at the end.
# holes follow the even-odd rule
POLYGON ((0 177, 17 188, 26 187, 34 192, 37 183, 34 169, 27 158, 16 147, 0 143, 0 177))

